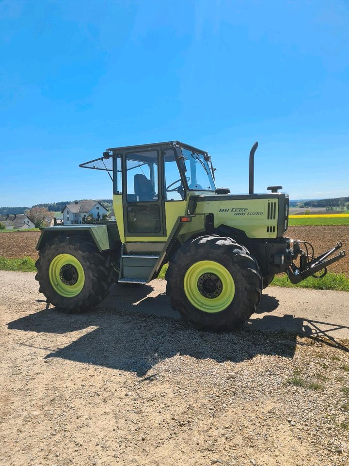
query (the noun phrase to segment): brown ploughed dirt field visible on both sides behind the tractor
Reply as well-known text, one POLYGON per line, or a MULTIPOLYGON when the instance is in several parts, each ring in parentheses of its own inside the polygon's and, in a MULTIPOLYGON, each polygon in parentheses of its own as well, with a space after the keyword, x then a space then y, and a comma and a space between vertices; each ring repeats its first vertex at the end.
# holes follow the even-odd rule
MULTIPOLYGON (((36 243, 40 232, 0 233, 0 256, 23 257, 37 259, 36 243)), ((348 254, 344 259, 329 267, 331 272, 345 273, 349 277, 349 227, 290 227, 287 236, 302 239, 313 244, 315 252, 321 253, 335 246, 337 241, 344 243, 348 254)))

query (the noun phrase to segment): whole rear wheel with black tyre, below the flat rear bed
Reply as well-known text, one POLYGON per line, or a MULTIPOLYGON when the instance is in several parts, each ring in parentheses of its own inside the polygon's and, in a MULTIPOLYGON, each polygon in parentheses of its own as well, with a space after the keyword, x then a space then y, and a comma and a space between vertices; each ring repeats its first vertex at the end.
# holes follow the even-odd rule
POLYGON ((95 307, 108 294, 113 267, 83 236, 58 236, 39 251, 35 279, 47 301, 67 313, 95 307))

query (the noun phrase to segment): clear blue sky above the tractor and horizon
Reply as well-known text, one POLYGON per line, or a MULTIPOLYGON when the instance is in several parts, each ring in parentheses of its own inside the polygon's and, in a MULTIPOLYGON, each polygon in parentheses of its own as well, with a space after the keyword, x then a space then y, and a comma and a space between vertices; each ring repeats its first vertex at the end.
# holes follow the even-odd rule
POLYGON ((347 1, 0 1, 0 206, 111 197, 78 164, 178 139, 218 186, 349 196, 347 1))

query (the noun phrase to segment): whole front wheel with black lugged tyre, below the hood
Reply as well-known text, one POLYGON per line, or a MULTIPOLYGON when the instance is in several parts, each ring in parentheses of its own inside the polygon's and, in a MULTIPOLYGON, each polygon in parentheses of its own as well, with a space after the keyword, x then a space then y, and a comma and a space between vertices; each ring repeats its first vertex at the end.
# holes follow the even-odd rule
POLYGON ((242 325, 261 299, 257 262, 228 237, 188 241, 171 258, 165 279, 173 309, 202 330, 229 331, 242 325))

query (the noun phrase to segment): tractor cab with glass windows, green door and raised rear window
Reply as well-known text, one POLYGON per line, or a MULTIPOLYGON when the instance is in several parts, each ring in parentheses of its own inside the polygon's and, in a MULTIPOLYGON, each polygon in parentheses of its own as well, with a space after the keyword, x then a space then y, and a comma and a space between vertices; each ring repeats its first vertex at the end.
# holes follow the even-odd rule
POLYGON ((216 190, 208 153, 178 141, 110 148, 80 167, 108 172, 123 243, 166 241, 190 197, 216 190))

